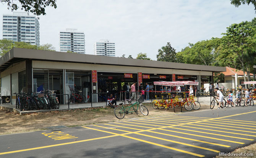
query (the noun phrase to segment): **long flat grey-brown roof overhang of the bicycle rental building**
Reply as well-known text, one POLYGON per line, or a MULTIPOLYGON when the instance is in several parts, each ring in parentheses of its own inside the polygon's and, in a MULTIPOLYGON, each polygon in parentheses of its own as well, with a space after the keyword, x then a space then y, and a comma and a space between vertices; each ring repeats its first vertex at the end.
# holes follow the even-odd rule
POLYGON ((43 51, 36 49, 13 48, 0 58, 0 72, 11 64, 26 60, 58 61, 74 63, 90 63, 102 65, 122 65, 136 67, 152 67, 164 69, 198 70, 211 72, 224 72, 226 67, 206 66, 196 64, 183 64, 176 62, 148 61, 139 59, 129 59, 123 57, 96 56, 91 54, 65 53, 58 51, 43 51))

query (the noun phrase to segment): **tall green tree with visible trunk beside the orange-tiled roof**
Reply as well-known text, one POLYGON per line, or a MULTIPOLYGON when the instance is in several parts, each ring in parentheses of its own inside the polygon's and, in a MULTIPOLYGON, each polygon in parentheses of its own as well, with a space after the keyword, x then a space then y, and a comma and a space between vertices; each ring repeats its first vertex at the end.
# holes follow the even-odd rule
MULTIPOLYGON (((235 54, 237 64, 241 64, 243 69, 244 81, 245 79, 245 67, 248 74, 250 74, 250 59, 252 54, 255 54, 256 46, 256 26, 253 26, 251 22, 241 22, 240 24, 232 24, 227 27, 226 33, 223 33, 222 47, 235 54), (248 61, 249 60, 249 61, 248 61)), ((250 80, 250 78, 248 77, 250 80)))

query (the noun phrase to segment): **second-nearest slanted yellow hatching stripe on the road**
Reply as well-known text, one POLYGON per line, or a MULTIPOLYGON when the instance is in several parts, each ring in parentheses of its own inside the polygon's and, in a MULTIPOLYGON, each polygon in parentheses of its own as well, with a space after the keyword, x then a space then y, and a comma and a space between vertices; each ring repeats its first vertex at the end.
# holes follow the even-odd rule
MULTIPOLYGON (((104 126, 98 126, 98 125, 94 125, 94 126, 101 127, 101 128, 112 129, 112 130, 116 130, 116 131, 130 132, 130 131, 122 130, 122 129, 108 128, 108 127, 104 127, 104 126)), ((147 135, 147 134, 142 134, 142 133, 134 133, 134 134, 138 134, 138 135, 145 136, 145 137, 151 137, 151 138, 155 138, 155 139, 159 139, 159 140, 164 140, 164 141, 167 141, 167 142, 182 144, 182 145, 186 145, 186 146, 190 146, 190 147, 201 148, 201 149, 209 150, 209 151, 216 152, 216 153, 220 152, 218 150, 214 150, 214 149, 210 149, 210 148, 200 147, 200 146, 197 146, 197 145, 192 145, 192 144, 187 144, 187 143, 178 142, 178 141, 174 141, 174 140, 164 139, 164 138, 155 137, 155 136, 151 136, 151 135, 147 135)))

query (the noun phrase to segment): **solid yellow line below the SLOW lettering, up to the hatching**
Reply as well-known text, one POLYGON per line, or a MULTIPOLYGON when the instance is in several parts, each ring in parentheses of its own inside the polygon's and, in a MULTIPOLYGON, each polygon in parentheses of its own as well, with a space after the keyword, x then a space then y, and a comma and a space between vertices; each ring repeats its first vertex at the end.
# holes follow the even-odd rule
POLYGON ((75 141, 75 142, 47 145, 47 146, 36 147, 36 148, 27 148, 27 149, 23 149, 23 150, 15 150, 15 151, 11 151, 11 152, 3 152, 3 153, 0 153, 0 155, 10 154, 10 153, 18 153, 18 152, 26 152, 26 151, 37 150, 37 149, 42 149, 42 148, 57 147, 57 146, 61 146, 61 145, 68 145, 68 144, 87 142, 87 141, 91 141, 91 140, 104 139, 104 138, 115 137, 115 136, 117 136, 117 135, 111 135, 111 136, 105 136, 105 137, 99 137, 99 138, 92 138, 92 139, 85 139, 85 140, 78 140, 78 141, 75 141))

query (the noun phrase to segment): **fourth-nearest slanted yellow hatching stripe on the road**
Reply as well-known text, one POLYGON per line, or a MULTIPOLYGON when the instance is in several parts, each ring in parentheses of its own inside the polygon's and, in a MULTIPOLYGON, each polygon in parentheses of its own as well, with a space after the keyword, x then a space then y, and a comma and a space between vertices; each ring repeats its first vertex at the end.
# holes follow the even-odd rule
POLYGON ((140 124, 140 123, 136 123, 136 122, 131 122, 131 123, 134 123, 134 124, 125 124, 125 123, 117 123, 117 122, 114 122, 114 123, 116 123, 116 124, 124 124, 124 125, 128 125, 128 126, 150 128, 150 129, 143 130, 143 131, 138 131, 138 132, 144 132, 144 131, 148 132, 148 131, 151 131, 151 130, 162 130, 162 131, 168 131, 168 132, 175 132, 175 133, 179 133, 179 134, 186 134, 186 135, 191 135, 191 136, 197 136, 197 137, 203 137, 203 138, 209 138, 209 139, 215 139, 215 140, 222 140, 224 142, 232 142, 232 143, 237 143, 237 144, 244 144, 244 143, 236 142, 236 141, 232 141, 232 140, 226 140, 226 139, 219 139, 219 138, 214 138, 214 137, 201 136, 201 135, 190 134, 190 133, 185 133, 185 132, 180 132, 180 131, 172 131, 172 130, 168 130, 168 129, 160 129, 160 128, 152 128, 152 127, 145 127, 145 126, 134 125, 134 124, 140 124))

